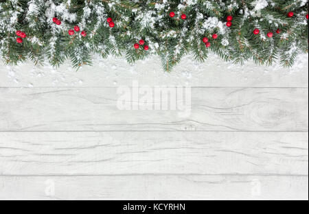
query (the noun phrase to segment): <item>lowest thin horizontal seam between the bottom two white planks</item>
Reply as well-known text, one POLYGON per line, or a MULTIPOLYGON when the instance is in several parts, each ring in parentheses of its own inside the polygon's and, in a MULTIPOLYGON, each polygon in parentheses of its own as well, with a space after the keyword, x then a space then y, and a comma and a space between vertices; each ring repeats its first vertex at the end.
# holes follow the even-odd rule
POLYGON ((112 176, 277 176, 308 177, 308 174, 1 174, 1 177, 112 177, 112 176))

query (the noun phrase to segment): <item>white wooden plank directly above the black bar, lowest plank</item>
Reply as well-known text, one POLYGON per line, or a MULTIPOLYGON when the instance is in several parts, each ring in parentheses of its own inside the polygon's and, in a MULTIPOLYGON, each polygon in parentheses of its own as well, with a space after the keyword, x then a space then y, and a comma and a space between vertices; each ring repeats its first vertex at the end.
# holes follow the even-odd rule
POLYGON ((0 200, 308 200, 308 177, 1 177, 0 200))

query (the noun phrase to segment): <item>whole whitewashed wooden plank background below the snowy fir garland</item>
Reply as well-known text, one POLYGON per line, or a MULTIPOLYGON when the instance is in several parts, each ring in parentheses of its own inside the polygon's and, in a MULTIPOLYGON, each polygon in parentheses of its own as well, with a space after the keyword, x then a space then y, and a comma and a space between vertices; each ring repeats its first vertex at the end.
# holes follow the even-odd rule
POLYGON ((0 199, 308 200, 308 55, 293 69, 159 59, 78 72, 0 62, 0 199), (192 114, 120 111, 118 86, 192 86, 192 114))

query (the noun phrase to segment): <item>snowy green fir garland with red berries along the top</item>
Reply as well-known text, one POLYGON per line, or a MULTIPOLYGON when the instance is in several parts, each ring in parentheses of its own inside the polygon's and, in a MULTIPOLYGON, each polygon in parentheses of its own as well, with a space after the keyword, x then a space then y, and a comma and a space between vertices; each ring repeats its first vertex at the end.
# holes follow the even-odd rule
POLYGON ((93 53, 129 63, 156 54, 171 71, 187 53, 203 62, 213 52, 289 67, 308 53, 308 0, 1 0, 0 44, 8 64, 70 58, 79 68, 93 53))

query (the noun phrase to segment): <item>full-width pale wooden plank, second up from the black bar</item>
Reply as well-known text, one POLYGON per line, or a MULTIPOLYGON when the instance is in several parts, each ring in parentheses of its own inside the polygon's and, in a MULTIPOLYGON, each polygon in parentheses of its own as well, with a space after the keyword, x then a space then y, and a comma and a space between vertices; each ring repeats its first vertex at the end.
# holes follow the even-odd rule
POLYGON ((308 132, 0 132, 0 175, 308 175, 308 132))

